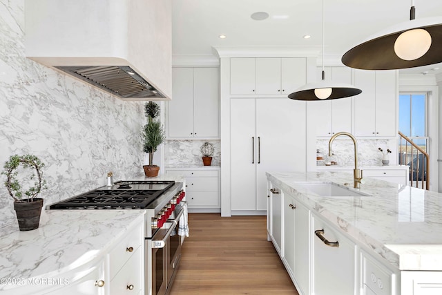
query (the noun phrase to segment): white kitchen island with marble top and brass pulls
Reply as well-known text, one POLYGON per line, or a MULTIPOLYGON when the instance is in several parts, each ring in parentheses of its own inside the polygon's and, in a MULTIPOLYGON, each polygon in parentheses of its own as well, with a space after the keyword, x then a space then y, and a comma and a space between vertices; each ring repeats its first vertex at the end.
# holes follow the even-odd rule
MULTIPOLYGON (((325 263, 333 260, 334 256, 340 258, 336 261, 336 269, 327 269, 331 280, 339 279, 333 278, 333 272, 345 273, 342 267, 345 263, 349 266, 348 276, 352 278, 349 283, 352 286, 349 286, 348 293, 340 289, 340 293, 336 294, 436 294, 425 293, 430 289, 439 292, 437 294, 442 292, 441 194, 369 178, 361 184, 361 189, 354 189, 368 196, 318 196, 301 185, 305 182, 333 182, 352 190, 353 175, 343 172, 267 173, 267 179, 269 189, 276 188, 276 193, 282 196, 282 200, 276 199, 278 197, 274 193, 269 196, 268 214, 273 225, 269 225, 268 231, 286 267, 290 263, 285 261, 285 257, 291 258, 292 249, 287 244, 291 237, 284 236, 293 227, 296 238, 299 224, 291 225, 285 221, 289 220, 287 216, 293 208, 296 208, 292 210, 294 214, 302 207, 308 212, 303 227, 309 227, 308 235, 304 236, 309 244, 298 245, 298 240, 294 245, 309 251, 305 255, 310 255, 312 275, 301 287, 302 283, 297 282, 296 267, 289 269, 301 294, 321 294, 318 290, 320 285, 324 285, 316 277, 320 276, 321 269, 326 269, 318 263, 322 251, 318 242, 323 243, 319 236, 327 242, 341 237, 343 242, 335 248, 338 249, 336 251, 344 251, 348 246, 348 255, 331 252, 330 256, 325 256, 325 263), (275 227, 278 222, 280 232, 275 227), (318 232, 321 230, 322 233, 318 232), (373 269, 378 270, 375 272, 373 269), (374 283, 378 290, 370 283, 374 283)), ((325 251, 333 248, 325 247, 325 251)), ((327 280, 327 276, 324 279, 327 280)))

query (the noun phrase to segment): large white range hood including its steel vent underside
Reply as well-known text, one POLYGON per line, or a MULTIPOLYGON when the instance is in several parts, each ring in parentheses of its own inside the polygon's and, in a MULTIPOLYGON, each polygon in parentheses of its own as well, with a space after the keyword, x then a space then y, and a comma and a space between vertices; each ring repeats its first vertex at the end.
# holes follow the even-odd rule
POLYGON ((171 100, 171 0, 26 0, 26 56, 135 101, 171 100))

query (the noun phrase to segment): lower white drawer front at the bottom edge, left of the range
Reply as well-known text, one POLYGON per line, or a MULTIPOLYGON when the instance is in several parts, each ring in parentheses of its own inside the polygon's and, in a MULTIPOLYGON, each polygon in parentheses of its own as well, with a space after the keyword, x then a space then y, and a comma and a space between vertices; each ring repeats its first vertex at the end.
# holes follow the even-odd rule
POLYGON ((111 280, 111 293, 115 295, 139 294, 142 289, 142 249, 139 247, 128 262, 111 280))

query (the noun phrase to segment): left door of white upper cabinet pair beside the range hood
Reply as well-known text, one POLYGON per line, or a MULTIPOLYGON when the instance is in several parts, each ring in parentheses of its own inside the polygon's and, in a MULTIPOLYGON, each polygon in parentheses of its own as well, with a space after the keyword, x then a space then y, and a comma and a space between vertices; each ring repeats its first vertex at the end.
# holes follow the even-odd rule
POLYGON ((169 137, 193 137, 193 68, 173 68, 169 137))

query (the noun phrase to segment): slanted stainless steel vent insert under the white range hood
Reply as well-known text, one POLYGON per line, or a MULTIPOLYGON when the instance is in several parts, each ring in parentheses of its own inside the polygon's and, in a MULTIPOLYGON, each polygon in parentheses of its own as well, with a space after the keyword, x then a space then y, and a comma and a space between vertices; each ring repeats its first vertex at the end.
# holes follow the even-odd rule
POLYGON ((130 66, 55 66, 122 99, 165 98, 130 66))

